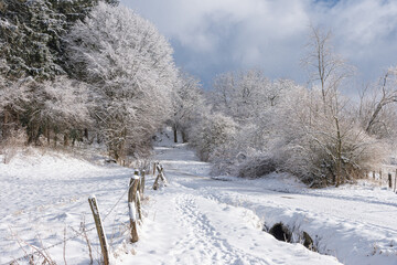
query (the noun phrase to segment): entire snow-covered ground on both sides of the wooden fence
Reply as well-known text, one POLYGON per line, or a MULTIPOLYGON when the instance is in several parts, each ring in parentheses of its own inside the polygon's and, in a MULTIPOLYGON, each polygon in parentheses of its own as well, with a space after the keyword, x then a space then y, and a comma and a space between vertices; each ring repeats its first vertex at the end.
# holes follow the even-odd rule
POLYGON ((162 141, 155 153, 169 184, 153 191, 149 178, 140 241, 132 245, 127 243, 125 194, 131 169, 36 151, 0 163, 0 264, 25 254, 18 242, 39 247, 61 242, 47 250, 57 264, 64 263, 64 250, 67 264, 89 264, 84 237, 62 243, 65 227, 66 239, 73 237, 84 216, 97 258, 87 203, 93 193, 106 216, 116 264, 397 264, 391 191, 367 182, 310 190, 286 174, 212 178, 211 165, 198 161, 185 145, 162 141), (328 255, 262 232, 264 224, 280 221, 296 237, 308 232, 328 255))

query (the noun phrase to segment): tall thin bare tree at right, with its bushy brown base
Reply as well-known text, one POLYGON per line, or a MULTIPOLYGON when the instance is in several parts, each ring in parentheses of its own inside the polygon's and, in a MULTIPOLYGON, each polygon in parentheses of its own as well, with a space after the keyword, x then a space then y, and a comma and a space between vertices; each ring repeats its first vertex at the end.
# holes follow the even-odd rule
POLYGON ((353 74, 353 67, 334 53, 330 31, 311 30, 310 51, 302 62, 312 70, 313 88, 307 92, 305 106, 298 104, 307 109, 304 115, 297 117, 291 113, 300 120, 296 126, 290 120, 296 130, 292 135, 300 132, 298 141, 291 141, 294 145, 287 145, 293 147, 289 160, 293 167, 300 165, 299 174, 320 180, 323 186, 337 187, 352 177, 362 176, 368 165, 378 162, 377 158, 383 156, 377 149, 378 142, 366 135, 357 117, 352 115, 351 102, 340 93, 343 82, 353 74), (379 156, 374 158, 375 153, 379 156))

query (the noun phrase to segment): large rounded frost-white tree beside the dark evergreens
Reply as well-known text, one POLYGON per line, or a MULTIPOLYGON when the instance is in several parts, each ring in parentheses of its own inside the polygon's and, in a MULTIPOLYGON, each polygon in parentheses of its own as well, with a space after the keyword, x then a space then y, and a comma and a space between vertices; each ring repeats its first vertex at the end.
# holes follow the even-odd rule
POLYGON ((98 128, 116 158, 143 151, 171 115, 172 49, 149 21, 99 3, 67 36, 73 76, 92 85, 98 128))

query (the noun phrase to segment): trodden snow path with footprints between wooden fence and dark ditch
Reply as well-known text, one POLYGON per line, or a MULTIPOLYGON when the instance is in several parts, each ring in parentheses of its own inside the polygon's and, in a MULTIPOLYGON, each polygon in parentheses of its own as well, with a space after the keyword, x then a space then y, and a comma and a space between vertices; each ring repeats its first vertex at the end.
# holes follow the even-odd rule
POLYGON ((210 192, 211 184, 219 183, 207 177, 210 165, 197 161, 185 146, 158 147, 157 152, 170 184, 151 193, 155 201, 137 255, 121 256, 121 263, 339 264, 300 244, 275 240, 261 231, 262 220, 254 211, 219 201, 210 192))

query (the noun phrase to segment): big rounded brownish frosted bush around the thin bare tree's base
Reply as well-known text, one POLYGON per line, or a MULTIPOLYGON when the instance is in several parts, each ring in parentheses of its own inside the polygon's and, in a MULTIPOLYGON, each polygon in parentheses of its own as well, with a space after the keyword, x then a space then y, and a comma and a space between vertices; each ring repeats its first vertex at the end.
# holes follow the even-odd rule
POLYGON ((282 170, 311 186, 340 184, 364 178, 384 159, 383 142, 368 136, 347 107, 337 114, 324 112, 321 94, 304 88, 289 98, 280 113, 283 138, 273 150, 282 170))

